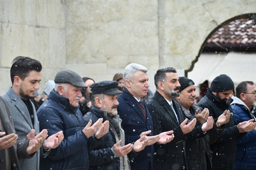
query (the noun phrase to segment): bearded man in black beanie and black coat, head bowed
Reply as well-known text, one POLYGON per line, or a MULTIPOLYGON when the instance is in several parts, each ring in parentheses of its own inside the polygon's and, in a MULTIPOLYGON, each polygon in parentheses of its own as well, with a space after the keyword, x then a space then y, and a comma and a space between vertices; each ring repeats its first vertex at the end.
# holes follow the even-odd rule
POLYGON ((209 109, 209 115, 217 118, 223 112, 230 112, 229 122, 224 125, 222 135, 210 145, 213 169, 233 169, 236 156, 237 139, 255 128, 252 120, 237 123, 232 114, 230 103, 234 89, 232 79, 227 75, 217 76, 212 80, 206 95, 199 101, 198 106, 209 109))

